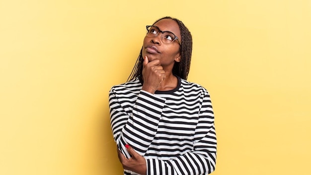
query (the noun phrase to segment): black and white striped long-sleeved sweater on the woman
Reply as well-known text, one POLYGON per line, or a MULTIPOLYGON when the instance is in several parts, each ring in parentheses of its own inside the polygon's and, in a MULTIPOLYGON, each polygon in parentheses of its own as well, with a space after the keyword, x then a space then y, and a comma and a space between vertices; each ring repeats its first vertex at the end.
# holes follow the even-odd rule
MULTIPOLYGON (((111 128, 127 157, 128 144, 144 156, 147 175, 207 175, 215 170, 216 133, 210 95, 178 77, 169 91, 151 94, 136 78, 109 92, 111 128)), ((137 175, 124 170, 124 175, 137 175)))

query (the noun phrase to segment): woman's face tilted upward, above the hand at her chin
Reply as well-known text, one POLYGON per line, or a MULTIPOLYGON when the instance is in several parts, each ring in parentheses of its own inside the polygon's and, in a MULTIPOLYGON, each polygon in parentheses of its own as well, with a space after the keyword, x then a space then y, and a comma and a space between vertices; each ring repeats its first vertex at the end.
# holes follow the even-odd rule
MULTIPOLYGON (((161 19, 154 24, 161 31, 170 31, 181 41, 179 26, 173 19, 161 19)), ((177 40, 170 44, 165 44, 161 40, 161 32, 156 37, 145 36, 143 44, 143 58, 148 57, 149 61, 159 59, 163 68, 172 69, 176 62, 180 61, 179 48, 177 40)))

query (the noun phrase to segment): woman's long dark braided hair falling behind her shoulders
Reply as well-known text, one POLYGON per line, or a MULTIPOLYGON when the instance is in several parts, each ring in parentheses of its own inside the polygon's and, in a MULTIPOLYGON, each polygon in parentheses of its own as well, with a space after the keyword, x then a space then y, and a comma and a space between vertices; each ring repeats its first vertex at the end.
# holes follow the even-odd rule
MULTIPOLYGON (((178 19, 172 18, 169 16, 160 18, 156 20, 154 24, 156 24, 158 21, 162 19, 173 19, 178 23, 179 29, 180 29, 180 35, 181 35, 181 46, 180 46, 180 61, 175 62, 173 66, 173 74, 179 76, 182 79, 187 80, 188 73, 190 70, 190 62, 191 62, 191 54, 192 54, 192 36, 189 32, 188 28, 178 19)), ((153 25, 154 25, 153 24, 153 25)), ((134 65, 134 68, 128 78, 128 81, 133 80, 139 76, 142 75, 143 72, 143 48, 141 49, 141 52, 136 60, 136 63, 134 65)))

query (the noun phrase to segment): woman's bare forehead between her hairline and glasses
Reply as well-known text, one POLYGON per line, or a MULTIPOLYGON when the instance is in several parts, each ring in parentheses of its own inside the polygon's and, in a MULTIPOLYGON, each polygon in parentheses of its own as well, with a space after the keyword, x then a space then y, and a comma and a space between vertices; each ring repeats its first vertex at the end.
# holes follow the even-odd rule
POLYGON ((157 21, 154 25, 162 31, 170 31, 174 33, 178 38, 181 38, 178 23, 173 19, 161 19, 157 21))

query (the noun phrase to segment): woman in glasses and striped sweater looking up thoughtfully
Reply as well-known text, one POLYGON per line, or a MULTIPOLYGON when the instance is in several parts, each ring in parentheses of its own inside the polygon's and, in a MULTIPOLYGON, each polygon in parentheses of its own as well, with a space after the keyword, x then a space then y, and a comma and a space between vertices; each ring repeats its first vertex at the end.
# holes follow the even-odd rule
POLYGON ((130 81, 109 92, 110 119, 124 175, 207 175, 215 170, 210 95, 186 81, 192 37, 164 17, 147 35, 130 81))

